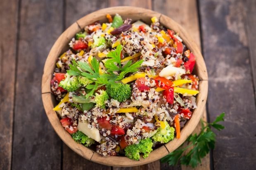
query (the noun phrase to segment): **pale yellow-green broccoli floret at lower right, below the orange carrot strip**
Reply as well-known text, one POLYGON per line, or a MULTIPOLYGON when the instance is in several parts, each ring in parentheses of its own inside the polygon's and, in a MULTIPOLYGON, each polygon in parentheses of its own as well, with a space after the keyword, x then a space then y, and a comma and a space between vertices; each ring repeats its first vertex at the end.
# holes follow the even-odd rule
POLYGON ((156 134, 152 136, 152 139, 156 142, 167 143, 174 138, 174 128, 170 127, 170 125, 165 122, 165 128, 161 127, 157 130, 156 134))

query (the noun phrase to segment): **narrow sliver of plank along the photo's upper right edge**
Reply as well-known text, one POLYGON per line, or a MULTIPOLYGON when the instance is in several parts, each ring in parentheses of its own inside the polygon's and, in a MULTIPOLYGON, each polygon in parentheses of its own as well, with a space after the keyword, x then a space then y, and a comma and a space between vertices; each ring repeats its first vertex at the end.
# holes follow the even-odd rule
POLYGON ((251 71, 254 80, 254 96, 256 96, 256 1, 247 0, 245 9, 251 71))

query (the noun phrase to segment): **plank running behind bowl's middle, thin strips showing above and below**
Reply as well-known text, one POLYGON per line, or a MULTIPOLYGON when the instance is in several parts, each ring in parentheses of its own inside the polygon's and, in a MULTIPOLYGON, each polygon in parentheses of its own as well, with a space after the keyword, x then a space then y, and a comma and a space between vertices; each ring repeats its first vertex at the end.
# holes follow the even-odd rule
MULTIPOLYGON (((147 9, 152 9, 152 1, 151 0, 125 0, 125 1, 117 1, 117 0, 109 0, 109 6, 135 6, 142 7, 147 9)), ((113 167, 113 170, 160 170, 160 161, 154 161, 152 163, 148 163, 146 165, 135 166, 135 167, 113 167)))

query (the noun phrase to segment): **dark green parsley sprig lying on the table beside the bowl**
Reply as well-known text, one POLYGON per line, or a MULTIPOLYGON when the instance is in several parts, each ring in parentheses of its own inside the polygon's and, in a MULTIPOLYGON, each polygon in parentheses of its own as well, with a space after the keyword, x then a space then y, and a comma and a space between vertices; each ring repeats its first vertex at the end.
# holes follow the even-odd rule
POLYGON ((218 124, 220 121, 224 121, 223 117, 225 113, 221 113, 212 123, 207 123, 201 120, 201 132, 195 133, 187 138, 187 142, 191 143, 187 147, 180 146, 175 151, 171 152, 167 156, 161 159, 161 162, 168 162, 169 165, 177 165, 180 161, 182 165, 190 165, 195 168, 198 163, 201 163, 201 158, 206 156, 211 149, 214 149, 216 142, 216 134, 211 130, 211 127, 218 131, 225 127, 218 124), (191 148, 192 149, 185 155, 183 153, 191 148))

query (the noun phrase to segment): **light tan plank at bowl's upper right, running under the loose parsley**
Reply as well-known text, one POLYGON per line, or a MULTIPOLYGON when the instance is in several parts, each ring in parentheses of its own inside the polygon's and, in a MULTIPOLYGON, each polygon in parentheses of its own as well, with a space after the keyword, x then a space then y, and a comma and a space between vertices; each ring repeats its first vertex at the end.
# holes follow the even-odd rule
MULTIPOLYGON (((165 14, 176 22, 178 22, 187 32, 192 36, 196 41, 197 45, 201 49, 200 42, 200 28, 199 28, 199 19, 198 19, 198 10, 197 10, 197 0, 171 0, 168 1, 168 4, 165 0, 154 1, 153 4, 154 10, 159 11, 162 14, 165 14)), ((204 111, 203 117, 205 121, 207 120, 206 111, 204 111)), ((201 124, 197 125, 197 128, 193 133, 198 133, 201 129, 201 124)), ((198 166, 195 169, 198 170, 209 170, 210 169, 210 156, 209 154, 202 160, 202 165, 198 166)), ((162 163, 161 168, 166 169, 168 166, 166 163, 162 163)), ((190 169, 190 167, 180 166, 176 167, 177 169, 190 169)))

